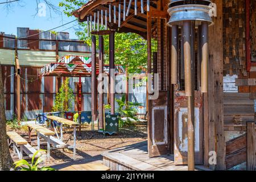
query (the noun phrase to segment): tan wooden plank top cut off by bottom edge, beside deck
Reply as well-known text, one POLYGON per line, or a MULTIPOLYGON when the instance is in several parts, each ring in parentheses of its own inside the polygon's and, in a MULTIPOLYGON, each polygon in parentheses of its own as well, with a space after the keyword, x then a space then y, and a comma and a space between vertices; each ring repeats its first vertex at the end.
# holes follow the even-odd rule
POLYGON ((77 164, 60 169, 59 171, 110 171, 109 167, 103 164, 77 164))

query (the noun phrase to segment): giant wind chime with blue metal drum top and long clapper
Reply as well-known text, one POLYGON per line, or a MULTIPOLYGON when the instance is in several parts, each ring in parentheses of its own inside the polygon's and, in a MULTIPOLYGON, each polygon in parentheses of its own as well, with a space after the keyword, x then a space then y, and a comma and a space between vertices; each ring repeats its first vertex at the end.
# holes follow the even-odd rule
MULTIPOLYGON (((167 26, 172 27, 171 84, 177 84, 178 60, 184 57, 185 96, 188 100, 188 170, 195 170, 195 29, 199 28, 197 56, 201 60, 201 92, 208 92, 208 27, 213 24, 209 15, 211 1, 171 0, 167 26), (181 38, 179 40, 179 27, 181 38), (179 42, 181 56, 179 59, 179 42)), ((181 62, 182 63, 182 62, 181 62)), ((181 72, 183 72, 181 70, 181 72)))

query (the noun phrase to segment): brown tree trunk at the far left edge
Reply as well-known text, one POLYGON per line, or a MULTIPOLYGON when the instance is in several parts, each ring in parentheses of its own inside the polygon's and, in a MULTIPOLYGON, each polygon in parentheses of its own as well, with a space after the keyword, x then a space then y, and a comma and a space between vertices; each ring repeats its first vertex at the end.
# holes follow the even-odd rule
POLYGON ((3 92, 2 68, 0 64, 0 171, 13 166, 6 135, 5 94, 3 92))

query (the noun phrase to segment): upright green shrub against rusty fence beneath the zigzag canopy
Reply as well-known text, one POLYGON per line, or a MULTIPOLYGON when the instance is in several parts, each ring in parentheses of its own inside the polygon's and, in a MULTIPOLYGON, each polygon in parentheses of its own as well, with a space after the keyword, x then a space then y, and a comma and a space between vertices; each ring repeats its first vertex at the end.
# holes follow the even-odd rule
POLYGON ((72 107, 72 102, 75 101, 73 90, 69 87, 69 78, 66 78, 61 85, 59 92, 56 94, 55 104, 52 107, 52 111, 69 111, 72 107))

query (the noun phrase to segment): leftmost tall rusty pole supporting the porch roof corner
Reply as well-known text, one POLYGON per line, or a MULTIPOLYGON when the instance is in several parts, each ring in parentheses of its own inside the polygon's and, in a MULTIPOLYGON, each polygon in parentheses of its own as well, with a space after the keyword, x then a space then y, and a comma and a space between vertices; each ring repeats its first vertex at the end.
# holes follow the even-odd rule
POLYGON ((97 88, 96 88, 96 36, 92 35, 92 122, 97 120, 97 88))

